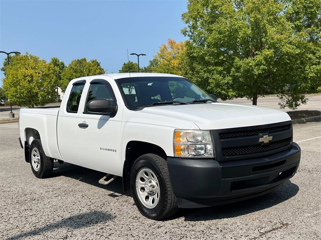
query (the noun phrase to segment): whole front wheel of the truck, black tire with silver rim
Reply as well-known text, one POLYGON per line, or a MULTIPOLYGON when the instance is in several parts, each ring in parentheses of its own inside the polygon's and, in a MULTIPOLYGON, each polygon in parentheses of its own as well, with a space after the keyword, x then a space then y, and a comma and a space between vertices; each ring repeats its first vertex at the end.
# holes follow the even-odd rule
POLYGON ((136 159, 130 173, 130 188, 138 210, 147 218, 162 220, 178 210, 167 162, 156 154, 136 159))

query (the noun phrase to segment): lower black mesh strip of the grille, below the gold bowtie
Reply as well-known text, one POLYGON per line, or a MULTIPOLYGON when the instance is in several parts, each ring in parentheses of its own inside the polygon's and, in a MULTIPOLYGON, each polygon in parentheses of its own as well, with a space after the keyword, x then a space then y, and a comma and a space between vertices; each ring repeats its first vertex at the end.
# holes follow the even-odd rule
POLYGON ((271 142, 269 145, 252 145, 246 147, 236 147, 236 148, 222 148, 223 156, 239 156, 254 153, 263 153, 273 149, 282 148, 291 144, 292 138, 287 138, 275 142, 271 142))

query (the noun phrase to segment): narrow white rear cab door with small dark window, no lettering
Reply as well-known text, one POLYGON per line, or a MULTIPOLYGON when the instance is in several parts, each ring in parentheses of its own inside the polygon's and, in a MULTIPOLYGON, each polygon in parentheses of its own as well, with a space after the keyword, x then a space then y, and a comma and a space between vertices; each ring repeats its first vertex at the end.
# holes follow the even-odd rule
MULTIPOLYGON (((77 153, 77 128, 78 128, 78 115, 81 111, 80 100, 82 91, 84 89, 86 80, 80 80, 74 82, 69 90, 69 86, 66 89, 66 93, 70 91, 67 103, 66 99, 63 99, 61 106, 66 106, 64 109, 60 109, 57 121, 57 138, 58 147, 63 157, 63 160, 67 163, 81 165, 78 153, 77 153)), ((68 96, 66 94, 66 96, 68 96)), ((83 96, 82 98, 84 98, 83 96)))

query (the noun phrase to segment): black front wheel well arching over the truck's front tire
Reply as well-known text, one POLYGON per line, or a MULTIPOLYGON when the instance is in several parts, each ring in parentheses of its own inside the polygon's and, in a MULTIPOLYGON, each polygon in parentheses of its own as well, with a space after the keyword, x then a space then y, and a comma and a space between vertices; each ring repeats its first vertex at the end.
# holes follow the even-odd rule
POLYGON ((130 141, 126 146, 126 158, 123 167, 123 188, 125 194, 131 194, 129 176, 135 160, 144 154, 154 153, 166 159, 166 153, 160 146, 148 142, 130 141))

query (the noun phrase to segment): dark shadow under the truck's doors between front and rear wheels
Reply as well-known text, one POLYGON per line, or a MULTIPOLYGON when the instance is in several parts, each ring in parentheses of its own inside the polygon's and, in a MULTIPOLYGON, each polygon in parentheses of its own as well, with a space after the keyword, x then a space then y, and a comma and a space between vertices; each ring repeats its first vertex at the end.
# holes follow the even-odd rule
POLYGON ((123 182, 121 177, 116 178, 108 185, 102 185, 98 183, 98 180, 100 180, 105 175, 106 173, 104 172, 91 170, 89 168, 84 168, 74 164, 59 164, 58 162, 54 162, 54 170, 50 177, 55 178, 59 176, 65 176, 68 178, 73 178, 75 180, 90 184, 92 186, 114 192, 112 194, 108 194, 108 196, 111 197, 119 197, 124 195, 123 182))

